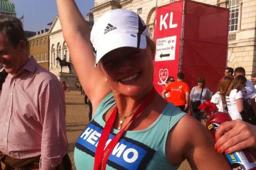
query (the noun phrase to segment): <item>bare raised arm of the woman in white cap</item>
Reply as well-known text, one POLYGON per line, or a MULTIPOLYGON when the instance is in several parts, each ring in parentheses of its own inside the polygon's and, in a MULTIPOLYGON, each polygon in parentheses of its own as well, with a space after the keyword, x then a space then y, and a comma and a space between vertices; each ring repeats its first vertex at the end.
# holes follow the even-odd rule
POLYGON ((56 0, 56 2, 72 64, 86 95, 92 106, 96 108, 111 89, 100 66, 95 68, 90 29, 74 0, 56 0))

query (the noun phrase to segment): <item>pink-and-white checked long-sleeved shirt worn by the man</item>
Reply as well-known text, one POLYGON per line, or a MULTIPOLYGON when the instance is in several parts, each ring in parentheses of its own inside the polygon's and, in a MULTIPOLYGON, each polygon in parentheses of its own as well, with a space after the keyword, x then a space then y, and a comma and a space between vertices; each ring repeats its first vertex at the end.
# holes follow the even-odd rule
POLYGON ((0 151, 12 158, 41 155, 52 170, 67 153, 64 91, 56 76, 30 58, 0 91, 0 151))

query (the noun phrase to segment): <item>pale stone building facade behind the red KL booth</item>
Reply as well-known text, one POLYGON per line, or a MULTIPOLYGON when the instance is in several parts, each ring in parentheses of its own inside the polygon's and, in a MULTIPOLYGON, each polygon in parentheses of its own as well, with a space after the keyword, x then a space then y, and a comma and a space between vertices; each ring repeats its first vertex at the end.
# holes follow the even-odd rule
MULTIPOLYGON (((136 12, 154 37, 156 7, 175 0, 94 0, 94 21, 108 10, 123 8, 136 12)), ((242 66, 247 78, 256 72, 256 0, 196 0, 230 9, 227 66, 242 66)), ((223 70, 224 73, 224 70, 223 70)))

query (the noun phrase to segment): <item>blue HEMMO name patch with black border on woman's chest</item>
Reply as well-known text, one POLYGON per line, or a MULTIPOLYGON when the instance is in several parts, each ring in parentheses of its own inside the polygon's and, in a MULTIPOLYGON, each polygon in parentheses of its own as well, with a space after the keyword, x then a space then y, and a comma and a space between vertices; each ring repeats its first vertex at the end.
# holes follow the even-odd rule
MULTIPOLYGON (((102 129, 102 126, 92 120, 79 136, 76 148, 94 157, 102 129)), ((116 134, 110 133, 106 145, 110 143, 114 135, 116 134)), ((143 143, 122 137, 112 150, 107 164, 120 170, 146 169, 154 153, 155 150, 143 143)))

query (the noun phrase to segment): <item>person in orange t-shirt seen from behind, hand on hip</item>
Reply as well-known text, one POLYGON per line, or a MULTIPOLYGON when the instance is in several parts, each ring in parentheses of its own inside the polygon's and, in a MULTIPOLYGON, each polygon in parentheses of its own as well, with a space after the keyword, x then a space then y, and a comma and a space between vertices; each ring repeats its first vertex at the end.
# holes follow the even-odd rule
POLYGON ((162 97, 166 99, 165 94, 170 92, 168 102, 172 102, 174 106, 179 107, 181 110, 186 111, 189 104, 189 88, 188 84, 183 82, 184 73, 178 72, 177 81, 169 83, 162 92, 162 97))

